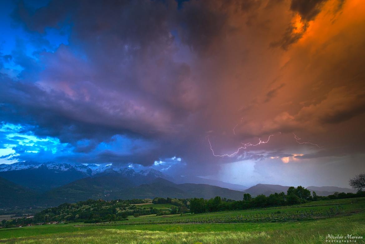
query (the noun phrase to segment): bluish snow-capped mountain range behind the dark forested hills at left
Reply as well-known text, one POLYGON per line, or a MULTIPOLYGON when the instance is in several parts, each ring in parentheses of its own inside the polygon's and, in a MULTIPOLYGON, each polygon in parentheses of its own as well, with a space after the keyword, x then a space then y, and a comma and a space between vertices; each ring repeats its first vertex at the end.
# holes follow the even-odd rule
POLYGON ((126 178, 135 186, 159 177, 171 180, 169 176, 155 169, 136 172, 132 168, 122 168, 112 164, 36 163, 32 161, 0 164, 0 177, 38 191, 47 191, 82 178, 106 175, 126 178))

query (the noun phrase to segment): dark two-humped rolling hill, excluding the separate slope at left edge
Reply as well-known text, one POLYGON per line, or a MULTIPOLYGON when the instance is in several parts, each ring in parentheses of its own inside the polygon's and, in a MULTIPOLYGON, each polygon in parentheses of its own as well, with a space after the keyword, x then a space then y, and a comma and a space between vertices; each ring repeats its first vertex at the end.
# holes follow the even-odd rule
POLYGON ((130 180, 115 175, 88 177, 46 192, 42 205, 56 206, 64 202, 72 203, 87 199, 133 199, 133 198, 205 198, 216 196, 241 200, 243 192, 207 184, 175 184, 157 178, 149 183, 134 186, 130 180))

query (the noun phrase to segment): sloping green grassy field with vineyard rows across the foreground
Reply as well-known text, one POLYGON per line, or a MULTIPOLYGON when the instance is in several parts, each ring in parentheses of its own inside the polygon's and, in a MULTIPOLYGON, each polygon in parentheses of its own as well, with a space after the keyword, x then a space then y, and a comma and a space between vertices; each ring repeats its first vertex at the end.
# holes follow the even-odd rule
MULTIPOLYGON (((345 239, 346 235, 365 238, 365 198, 261 210, 146 216, 105 224, 73 223, 0 229, 0 243, 299 244, 326 243, 327 235, 343 236, 345 241, 351 240, 345 239), (289 218, 293 215, 294 218, 289 218), (288 218, 283 219, 283 216, 288 218), (201 223, 202 220, 208 221, 201 223), (146 221, 168 221, 169 224, 147 224, 146 221), (171 224, 179 221, 181 223, 171 224)), ((352 239, 352 243, 355 240, 356 243, 365 243, 364 239, 352 239)))

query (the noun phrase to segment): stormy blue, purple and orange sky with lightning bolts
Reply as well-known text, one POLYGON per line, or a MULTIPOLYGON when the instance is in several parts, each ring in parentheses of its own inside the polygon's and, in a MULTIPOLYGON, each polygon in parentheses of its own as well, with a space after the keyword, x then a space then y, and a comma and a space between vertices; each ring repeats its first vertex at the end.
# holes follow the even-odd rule
POLYGON ((361 0, 9 0, 0 29, 0 163, 245 186, 365 171, 361 0))

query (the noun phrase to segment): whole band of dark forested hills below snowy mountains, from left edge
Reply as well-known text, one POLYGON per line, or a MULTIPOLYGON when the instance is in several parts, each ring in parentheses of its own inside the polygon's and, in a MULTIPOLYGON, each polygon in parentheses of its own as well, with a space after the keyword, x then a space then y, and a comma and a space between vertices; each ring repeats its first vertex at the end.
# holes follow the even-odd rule
POLYGON ((175 184, 157 178, 149 183, 135 186, 129 179, 120 175, 102 175, 76 180, 45 193, 34 192, 8 180, 2 179, 0 206, 18 207, 54 207, 62 203, 74 203, 87 199, 153 199, 164 198, 204 198, 222 196, 227 199, 240 200, 243 192, 207 184, 175 184))

